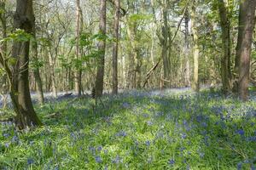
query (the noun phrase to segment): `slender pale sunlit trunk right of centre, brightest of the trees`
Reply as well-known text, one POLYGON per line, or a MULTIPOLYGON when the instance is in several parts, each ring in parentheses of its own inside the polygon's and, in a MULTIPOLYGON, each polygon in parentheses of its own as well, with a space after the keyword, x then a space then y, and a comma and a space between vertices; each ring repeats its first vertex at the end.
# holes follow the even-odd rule
POLYGON ((195 16, 195 5, 196 2, 193 2, 192 11, 191 11, 191 27, 192 27, 192 33, 193 33, 193 40, 194 40, 194 47, 193 47, 193 55, 194 55, 194 75, 193 75, 193 84, 192 88, 195 90, 195 92, 199 92, 199 45, 198 45, 198 31, 196 28, 196 16, 195 16))

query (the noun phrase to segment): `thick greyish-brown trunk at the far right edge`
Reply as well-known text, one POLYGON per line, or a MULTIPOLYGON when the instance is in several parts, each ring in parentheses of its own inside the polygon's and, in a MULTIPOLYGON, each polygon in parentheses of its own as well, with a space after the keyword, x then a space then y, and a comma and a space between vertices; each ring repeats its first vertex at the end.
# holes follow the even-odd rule
POLYGON ((239 62, 238 93, 242 100, 248 98, 248 84, 250 74, 250 56, 253 42, 253 29, 255 26, 256 0, 245 0, 240 3, 239 31, 241 42, 237 42, 239 62))

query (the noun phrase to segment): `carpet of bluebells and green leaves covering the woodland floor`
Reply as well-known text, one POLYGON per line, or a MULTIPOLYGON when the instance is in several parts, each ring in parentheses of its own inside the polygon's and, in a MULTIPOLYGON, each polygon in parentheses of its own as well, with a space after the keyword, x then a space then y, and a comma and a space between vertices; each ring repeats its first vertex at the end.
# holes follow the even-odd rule
POLYGON ((44 127, 0 127, 0 169, 255 169, 256 99, 130 92, 36 106, 44 127), (45 118, 60 112, 56 118, 45 118))

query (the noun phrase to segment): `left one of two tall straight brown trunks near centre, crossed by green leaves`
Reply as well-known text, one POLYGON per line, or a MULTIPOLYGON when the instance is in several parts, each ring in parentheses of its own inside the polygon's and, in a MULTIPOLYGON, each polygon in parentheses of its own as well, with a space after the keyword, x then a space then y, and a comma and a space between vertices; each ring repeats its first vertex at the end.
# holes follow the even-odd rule
MULTIPOLYGON (((101 0, 100 33, 106 35, 106 0, 101 0)), ((100 55, 97 63, 96 75, 96 97, 101 97, 103 93, 104 67, 105 67, 105 48, 106 39, 104 38, 98 45, 100 55)))

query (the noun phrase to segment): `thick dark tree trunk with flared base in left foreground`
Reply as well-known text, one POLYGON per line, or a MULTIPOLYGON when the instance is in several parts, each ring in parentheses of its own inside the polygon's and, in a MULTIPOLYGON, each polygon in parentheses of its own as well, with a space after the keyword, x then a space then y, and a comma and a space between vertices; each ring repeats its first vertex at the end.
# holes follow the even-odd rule
MULTIPOLYGON (((21 29, 32 34, 35 18, 32 9, 32 0, 17 0, 14 17, 15 29, 21 29)), ((20 129, 39 126, 42 123, 33 109, 29 90, 28 64, 30 42, 14 42, 12 57, 16 64, 10 69, 10 97, 15 109, 15 124, 20 129)))

